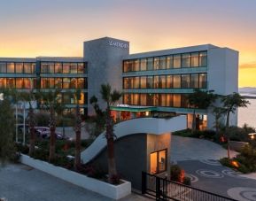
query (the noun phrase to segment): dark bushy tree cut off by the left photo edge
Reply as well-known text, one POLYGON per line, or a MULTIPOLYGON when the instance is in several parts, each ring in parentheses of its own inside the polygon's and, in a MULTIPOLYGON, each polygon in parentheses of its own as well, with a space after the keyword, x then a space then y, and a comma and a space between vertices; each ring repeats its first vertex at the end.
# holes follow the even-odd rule
POLYGON ((4 165, 16 154, 13 142, 14 112, 11 101, 5 97, 4 100, 0 100, 0 122, 0 162, 4 165))

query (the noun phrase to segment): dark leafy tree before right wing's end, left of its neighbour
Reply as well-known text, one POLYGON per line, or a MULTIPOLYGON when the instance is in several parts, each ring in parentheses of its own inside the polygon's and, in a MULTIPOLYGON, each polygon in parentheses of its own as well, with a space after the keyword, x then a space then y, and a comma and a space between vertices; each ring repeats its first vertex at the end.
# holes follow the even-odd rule
POLYGON ((188 96, 188 102, 193 109, 192 131, 196 130, 196 109, 207 109, 216 100, 218 95, 213 94, 213 90, 203 91, 194 89, 188 96))

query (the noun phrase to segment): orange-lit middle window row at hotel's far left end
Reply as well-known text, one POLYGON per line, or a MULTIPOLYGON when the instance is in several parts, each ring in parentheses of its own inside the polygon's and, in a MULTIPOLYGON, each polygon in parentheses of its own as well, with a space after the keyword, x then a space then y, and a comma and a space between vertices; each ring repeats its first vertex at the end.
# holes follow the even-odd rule
POLYGON ((0 78, 0 89, 34 89, 35 86, 35 78, 0 78))

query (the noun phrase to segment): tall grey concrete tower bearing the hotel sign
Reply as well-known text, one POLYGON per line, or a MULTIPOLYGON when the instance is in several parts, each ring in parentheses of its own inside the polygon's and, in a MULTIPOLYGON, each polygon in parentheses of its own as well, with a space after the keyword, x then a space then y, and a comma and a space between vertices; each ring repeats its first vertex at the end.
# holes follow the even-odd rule
MULTIPOLYGON (((109 83, 112 89, 122 90, 122 58, 128 56, 129 43, 109 37, 84 42, 84 61, 88 62, 88 103, 96 96, 101 108, 100 86, 109 83)), ((121 102, 121 100, 120 100, 121 102)), ((93 115, 93 107, 88 105, 88 114, 93 115)))

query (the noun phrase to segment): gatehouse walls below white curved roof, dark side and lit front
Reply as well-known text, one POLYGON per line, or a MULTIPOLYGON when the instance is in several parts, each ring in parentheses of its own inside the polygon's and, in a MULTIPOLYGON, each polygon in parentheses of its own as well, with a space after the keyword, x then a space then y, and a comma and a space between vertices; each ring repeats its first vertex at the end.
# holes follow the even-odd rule
MULTIPOLYGON (((131 182, 132 188, 141 189, 142 171, 150 173, 151 152, 167 149, 167 172, 170 168, 170 133, 163 135, 135 134, 115 141, 114 152, 117 172, 131 182)), ((92 162, 107 170, 106 149, 92 162)))

